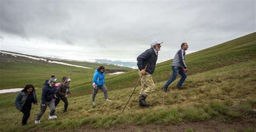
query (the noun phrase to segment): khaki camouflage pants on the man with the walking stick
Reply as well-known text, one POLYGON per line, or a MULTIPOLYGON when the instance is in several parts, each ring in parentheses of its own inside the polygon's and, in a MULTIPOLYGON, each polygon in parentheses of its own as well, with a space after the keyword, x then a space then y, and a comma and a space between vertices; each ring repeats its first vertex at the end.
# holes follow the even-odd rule
MULTIPOLYGON (((139 71, 139 76, 141 76, 139 71)), ((142 83, 142 90, 140 90, 139 95, 144 95, 145 97, 149 96, 154 89, 156 89, 156 85, 153 82, 151 74, 146 74, 142 76, 142 79, 140 80, 142 83)))

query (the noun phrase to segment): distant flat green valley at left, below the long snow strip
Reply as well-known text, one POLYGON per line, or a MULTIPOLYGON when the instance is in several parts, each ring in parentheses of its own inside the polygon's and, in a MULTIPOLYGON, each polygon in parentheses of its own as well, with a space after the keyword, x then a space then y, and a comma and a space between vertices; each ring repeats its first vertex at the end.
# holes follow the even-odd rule
MULTIPOLYGON (((56 61, 49 58, 47 60, 56 61)), ((44 81, 49 79, 51 75, 55 75, 58 78, 58 81, 61 81, 63 76, 69 76, 72 78, 72 82, 74 83, 86 80, 91 82, 93 73, 99 65, 104 65, 106 73, 111 71, 131 70, 130 68, 118 67, 110 64, 70 62, 63 60, 58 62, 90 67, 92 69, 69 67, 45 61, 32 60, 26 57, 15 57, 9 54, 0 54, 0 90, 24 87, 26 84, 33 84, 36 87, 42 87, 44 81)), ((111 76, 114 75, 107 75, 107 77, 111 76)))

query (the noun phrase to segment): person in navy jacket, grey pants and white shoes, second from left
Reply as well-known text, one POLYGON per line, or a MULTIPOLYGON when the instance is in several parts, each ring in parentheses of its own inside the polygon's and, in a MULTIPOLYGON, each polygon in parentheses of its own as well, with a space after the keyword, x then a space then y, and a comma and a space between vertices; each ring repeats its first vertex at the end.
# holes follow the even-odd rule
POLYGON ((47 106, 50 107, 50 115, 48 117, 48 120, 50 119, 56 119, 57 116, 54 115, 55 113, 55 104, 54 104, 54 94, 55 89, 54 86, 57 83, 56 77, 51 77, 49 80, 46 80, 42 89, 42 98, 41 98, 41 111, 36 116, 35 123, 40 123, 41 116, 45 113, 45 110, 47 106))

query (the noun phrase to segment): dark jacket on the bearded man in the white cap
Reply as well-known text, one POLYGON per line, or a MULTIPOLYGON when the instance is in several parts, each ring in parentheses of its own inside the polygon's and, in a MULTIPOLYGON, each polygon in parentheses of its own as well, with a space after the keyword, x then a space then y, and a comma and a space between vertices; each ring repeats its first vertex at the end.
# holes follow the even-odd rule
POLYGON ((147 65, 146 72, 153 74, 157 63, 157 54, 154 52, 153 48, 147 49, 137 57, 137 61, 139 70, 144 69, 147 65))

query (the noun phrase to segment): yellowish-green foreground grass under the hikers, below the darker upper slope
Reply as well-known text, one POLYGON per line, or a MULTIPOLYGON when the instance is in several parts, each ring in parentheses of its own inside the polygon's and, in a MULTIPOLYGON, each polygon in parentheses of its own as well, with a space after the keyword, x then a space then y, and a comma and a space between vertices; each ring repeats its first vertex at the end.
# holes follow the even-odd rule
MULTIPOLYGON (((250 78, 255 76, 255 69, 251 67, 255 64, 255 60, 247 61, 192 75, 187 78, 190 86, 185 90, 173 88, 169 93, 164 93, 160 90, 160 86, 165 82, 160 82, 157 84, 157 90, 147 98, 147 101, 153 105, 149 108, 138 107, 139 86, 123 114, 120 112, 129 98, 132 87, 109 92, 112 102, 105 102, 103 93, 98 93, 96 107, 91 105, 91 95, 72 97, 71 94, 68 114, 62 112, 63 102, 60 102, 56 108, 57 120, 47 120, 48 109, 42 116, 42 123, 35 125, 33 120, 39 112, 39 107, 33 106, 28 128, 22 130, 75 129, 85 124, 91 128, 109 128, 118 124, 180 124, 184 121, 212 119, 232 122, 234 119, 253 116, 253 108, 256 107, 256 92, 252 87, 255 82, 252 82, 250 78), (218 74, 215 74, 217 71, 218 74), (242 80, 242 84, 235 80, 242 80), (230 93, 226 93, 221 86, 229 84, 235 84, 235 86, 232 87, 233 90, 230 93)), ((4 96, 9 98, 8 94, 4 96)), ((22 113, 14 108, 14 104, 7 105, 6 103, 1 106, 0 114, 5 114, 0 122, 3 124, 0 130, 6 129, 6 126, 11 129, 20 127, 21 121, 17 120, 17 117, 20 119, 22 113)))

